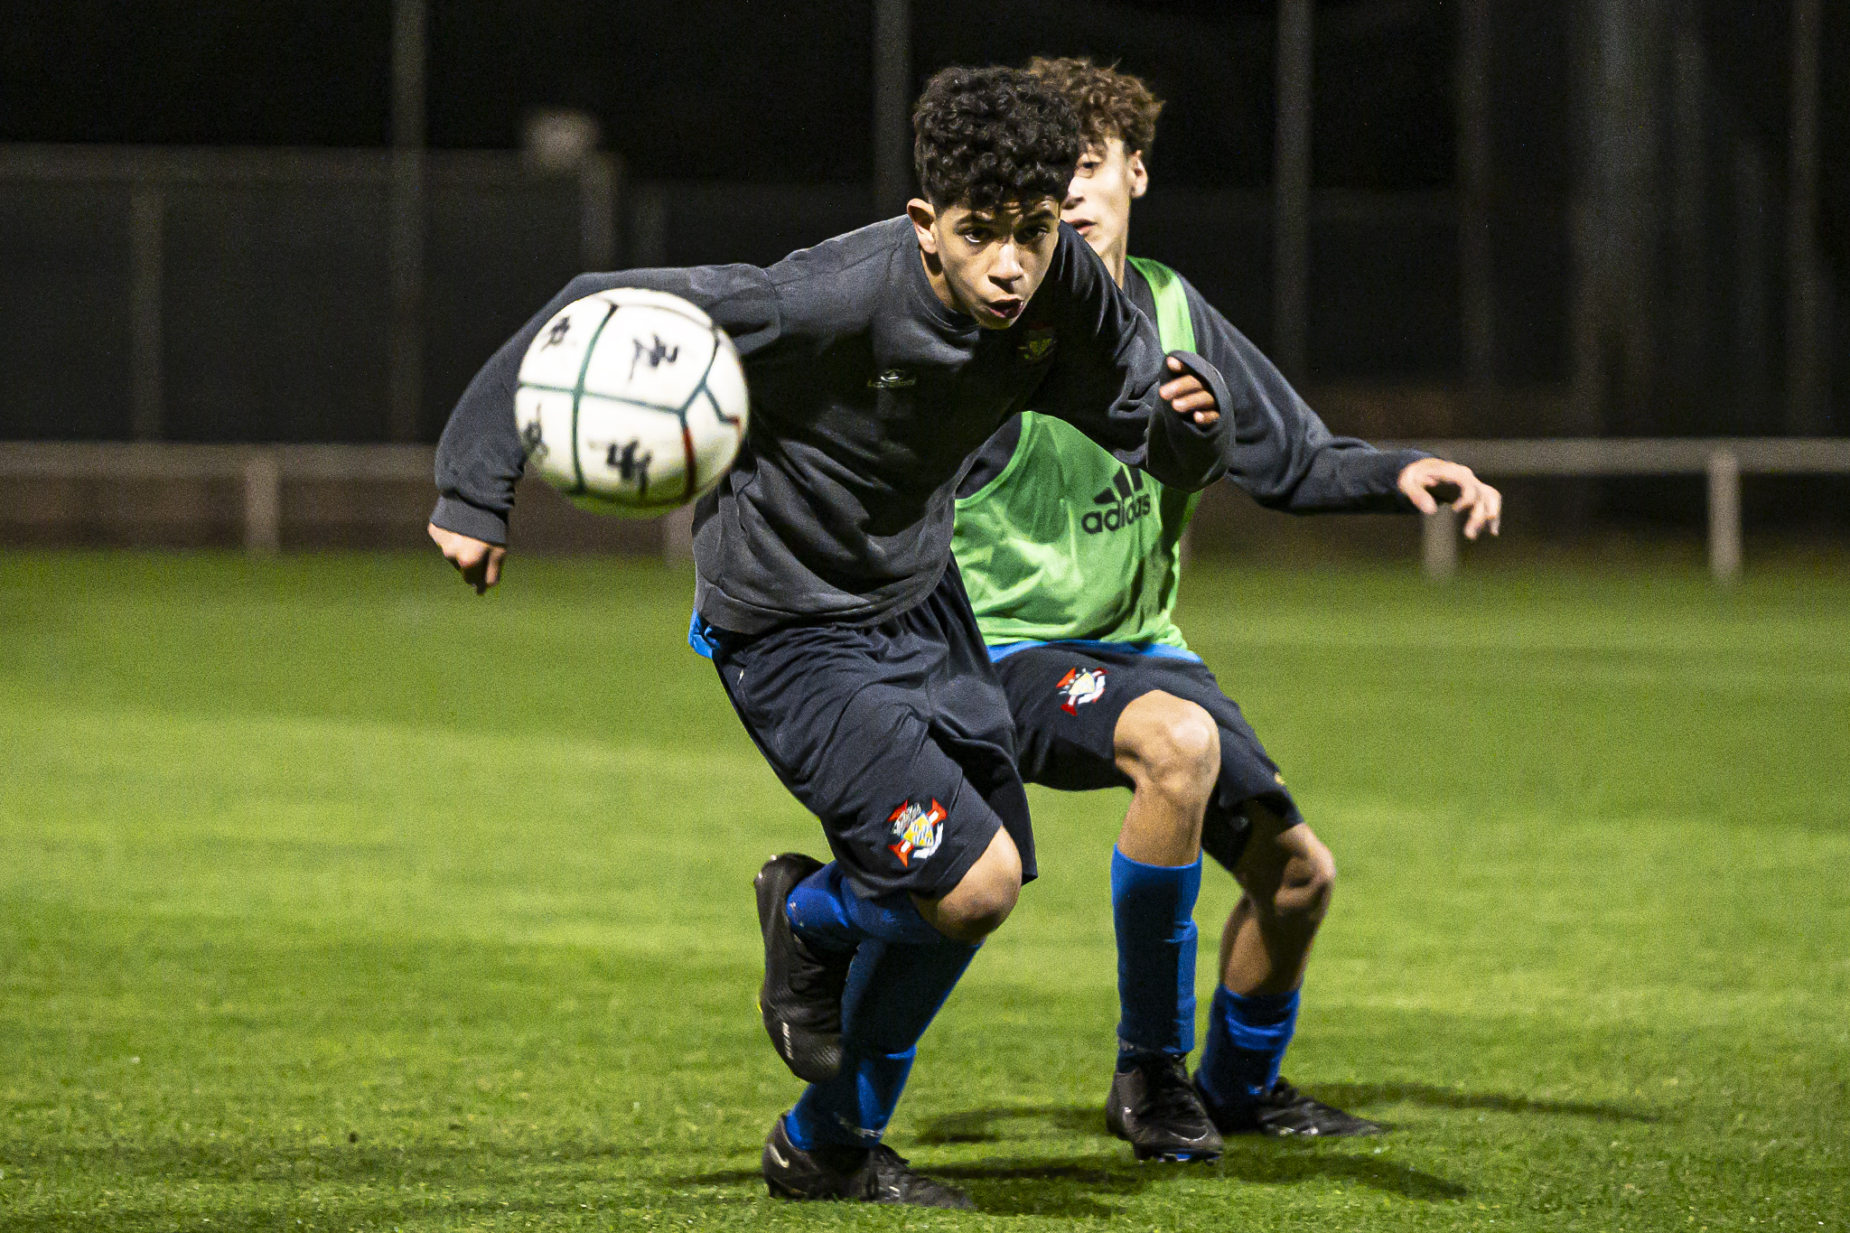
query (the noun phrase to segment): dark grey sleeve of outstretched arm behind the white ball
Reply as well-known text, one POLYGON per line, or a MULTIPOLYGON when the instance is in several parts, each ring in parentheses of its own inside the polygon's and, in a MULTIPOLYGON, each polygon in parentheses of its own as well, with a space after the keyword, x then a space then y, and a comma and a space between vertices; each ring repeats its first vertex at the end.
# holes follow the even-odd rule
POLYGON ((507 543, 507 512, 514 507, 514 484, 525 466, 520 433, 514 431, 520 360, 559 309, 612 287, 648 287, 688 299, 733 336, 740 359, 766 349, 779 335, 777 294, 758 266, 577 275, 483 364, 450 412, 450 423, 437 444, 438 495, 433 523, 488 543, 507 543))

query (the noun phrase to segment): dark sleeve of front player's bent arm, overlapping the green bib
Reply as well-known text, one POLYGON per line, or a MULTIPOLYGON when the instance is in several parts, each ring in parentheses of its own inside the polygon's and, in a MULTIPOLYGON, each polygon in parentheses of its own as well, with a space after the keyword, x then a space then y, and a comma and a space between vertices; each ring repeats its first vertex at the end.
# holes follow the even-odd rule
POLYGON ((1047 272, 1060 298, 1053 372, 1034 396, 1036 410, 1066 420, 1127 466, 1171 488, 1199 492, 1225 470, 1221 429, 1227 383, 1201 357, 1178 353, 1223 409, 1201 427, 1158 397, 1169 377, 1156 327, 1112 281, 1099 255, 1060 224, 1060 248, 1047 272))

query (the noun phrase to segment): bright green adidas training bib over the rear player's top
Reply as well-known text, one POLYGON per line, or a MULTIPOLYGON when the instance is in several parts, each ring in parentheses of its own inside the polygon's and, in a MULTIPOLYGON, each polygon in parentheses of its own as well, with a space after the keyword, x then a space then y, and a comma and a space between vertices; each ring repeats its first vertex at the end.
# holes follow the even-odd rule
MULTIPOLYGON (((1130 264, 1156 294, 1164 351, 1193 351, 1182 279, 1145 257, 1130 264)), ((1064 420, 1021 412, 1008 466, 956 503, 951 551, 982 640, 1186 649, 1173 612, 1197 497, 1121 464, 1064 420)))

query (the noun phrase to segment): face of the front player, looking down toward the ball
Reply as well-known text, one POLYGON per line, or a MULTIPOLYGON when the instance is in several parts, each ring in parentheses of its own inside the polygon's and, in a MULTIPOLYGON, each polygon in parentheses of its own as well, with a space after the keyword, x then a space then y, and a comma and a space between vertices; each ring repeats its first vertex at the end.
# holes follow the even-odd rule
POLYGON ((1060 242, 1053 198, 988 211, 914 200, 906 213, 938 299, 984 329, 1008 329, 1021 318, 1060 242))

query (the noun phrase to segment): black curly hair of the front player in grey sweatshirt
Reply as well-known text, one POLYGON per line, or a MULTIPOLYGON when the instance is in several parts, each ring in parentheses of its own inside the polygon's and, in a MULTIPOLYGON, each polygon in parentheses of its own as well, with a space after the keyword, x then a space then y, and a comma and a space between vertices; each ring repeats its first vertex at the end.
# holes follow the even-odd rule
POLYGON ((1079 120, 1025 68, 944 68, 912 109, 912 163, 936 205, 995 209, 1066 196, 1079 120))

